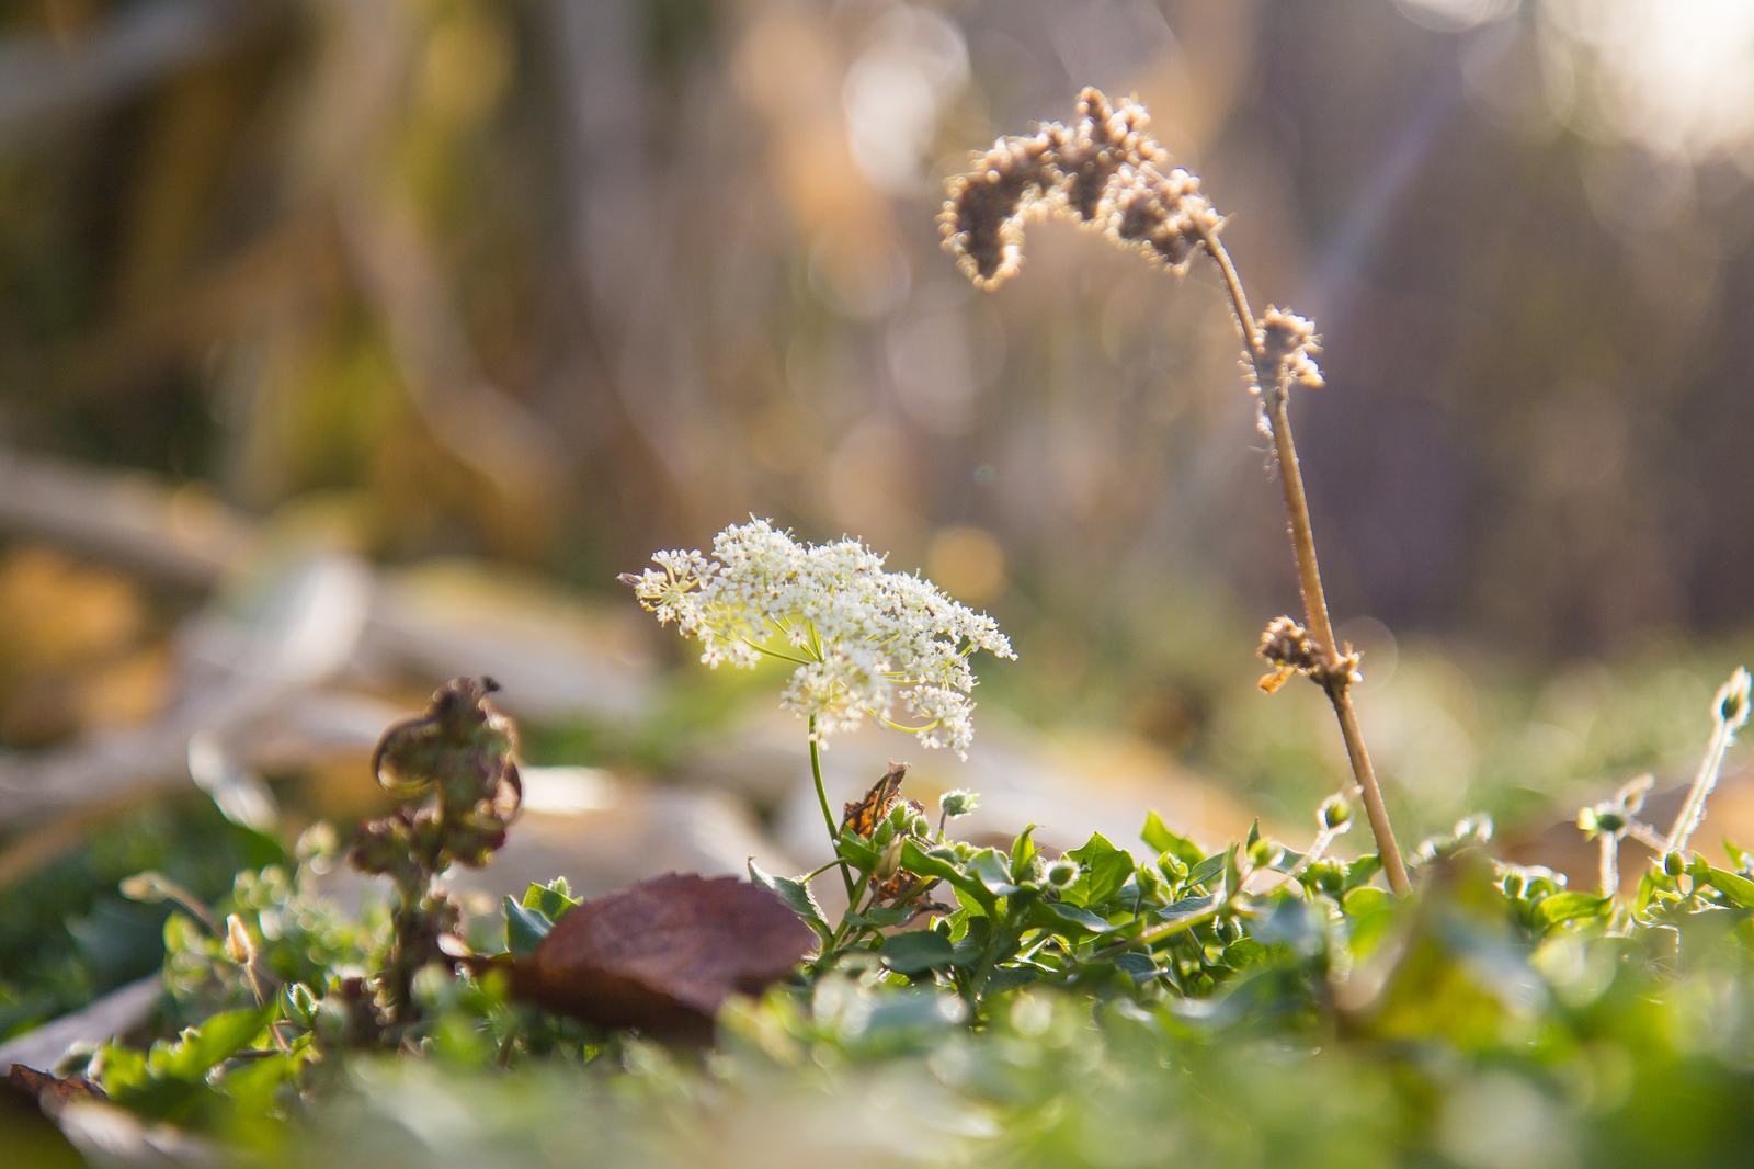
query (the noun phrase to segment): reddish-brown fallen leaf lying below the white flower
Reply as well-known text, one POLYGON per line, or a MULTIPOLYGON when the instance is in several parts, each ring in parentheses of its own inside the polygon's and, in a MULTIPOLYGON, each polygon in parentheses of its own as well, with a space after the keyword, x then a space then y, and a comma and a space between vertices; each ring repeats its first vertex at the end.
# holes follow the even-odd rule
POLYGON ((710 1043, 731 993, 759 993, 816 946, 765 888, 670 872, 588 900, 510 965, 512 993, 600 1027, 710 1043))

